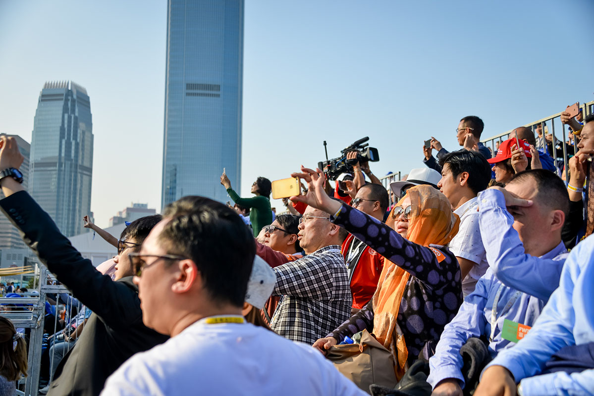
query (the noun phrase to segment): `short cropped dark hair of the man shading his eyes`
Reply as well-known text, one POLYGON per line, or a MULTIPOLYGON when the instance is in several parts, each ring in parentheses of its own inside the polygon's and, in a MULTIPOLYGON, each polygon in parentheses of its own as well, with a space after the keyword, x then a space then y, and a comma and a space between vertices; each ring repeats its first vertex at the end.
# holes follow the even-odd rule
POLYGON ((508 182, 522 183, 528 178, 532 178, 536 182, 536 199, 542 205, 546 205, 553 210, 561 210, 565 213, 565 218, 569 213, 569 194, 565 183, 559 176, 550 170, 546 169, 531 169, 516 173, 514 177, 508 182))

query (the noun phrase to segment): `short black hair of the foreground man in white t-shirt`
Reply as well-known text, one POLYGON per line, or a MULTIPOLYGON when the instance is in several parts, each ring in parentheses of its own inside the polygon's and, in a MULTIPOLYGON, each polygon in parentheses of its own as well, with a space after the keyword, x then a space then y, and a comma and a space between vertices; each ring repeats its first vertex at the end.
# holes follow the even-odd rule
POLYGON ((192 259, 214 302, 244 305, 256 247, 239 214, 220 202, 189 196, 169 204, 159 235, 168 254, 192 259))

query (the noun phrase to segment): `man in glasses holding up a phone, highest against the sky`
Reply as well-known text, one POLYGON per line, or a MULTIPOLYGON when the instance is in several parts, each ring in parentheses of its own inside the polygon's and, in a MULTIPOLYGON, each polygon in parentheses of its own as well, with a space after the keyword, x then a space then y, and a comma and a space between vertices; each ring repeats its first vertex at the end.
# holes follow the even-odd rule
MULTIPOLYGON (((489 149, 480 142, 481 134, 484 128, 485 124, 482 119, 478 118, 477 116, 466 116, 460 120, 458 128, 456 128, 456 138, 460 146, 466 148, 467 150, 478 151, 483 157, 485 157, 486 160, 488 160, 491 158, 491 151, 489 151, 489 149)), ((423 162, 431 169, 441 172, 440 164, 438 164, 435 158, 431 155, 431 151, 434 148, 437 150, 437 160, 441 160, 441 158, 448 153, 448 151, 441 146, 441 143, 437 139, 431 137, 431 147, 423 147, 423 153, 425 154, 425 159, 423 162)))

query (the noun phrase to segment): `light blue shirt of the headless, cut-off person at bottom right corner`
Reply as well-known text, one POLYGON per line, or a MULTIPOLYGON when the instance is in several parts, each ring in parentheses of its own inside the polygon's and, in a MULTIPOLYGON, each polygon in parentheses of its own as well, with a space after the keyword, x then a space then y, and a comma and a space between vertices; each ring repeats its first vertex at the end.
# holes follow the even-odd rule
POLYGON ((523 396, 592 395, 594 369, 581 373, 538 375, 552 354, 565 346, 594 341, 594 236, 574 248, 561 273, 559 288, 534 327, 516 347, 489 366, 504 366, 522 385, 523 396))

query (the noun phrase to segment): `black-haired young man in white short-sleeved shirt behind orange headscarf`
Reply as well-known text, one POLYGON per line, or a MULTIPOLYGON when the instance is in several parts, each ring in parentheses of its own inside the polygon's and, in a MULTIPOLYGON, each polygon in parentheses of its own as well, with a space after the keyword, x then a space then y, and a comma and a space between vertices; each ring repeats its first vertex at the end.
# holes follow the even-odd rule
POLYGON ((452 151, 440 164, 443 168, 437 186, 450 201, 454 213, 460 216, 460 229, 448 247, 460 264, 462 293, 466 297, 489 268, 479 229, 476 195, 487 188, 491 166, 482 154, 469 150, 452 151))

